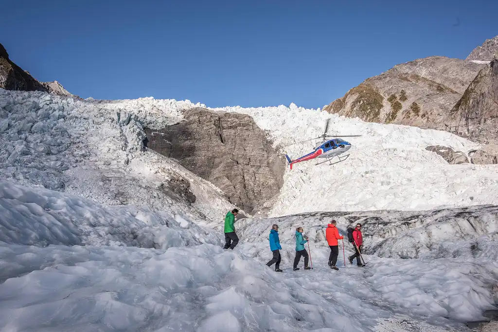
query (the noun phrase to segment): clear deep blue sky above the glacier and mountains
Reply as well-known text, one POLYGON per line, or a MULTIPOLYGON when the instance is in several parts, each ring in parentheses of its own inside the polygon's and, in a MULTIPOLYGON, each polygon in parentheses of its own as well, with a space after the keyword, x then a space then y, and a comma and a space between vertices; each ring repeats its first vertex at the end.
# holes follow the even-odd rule
POLYGON ((318 108, 416 58, 464 59, 498 1, 3 0, 0 42, 83 98, 318 108))

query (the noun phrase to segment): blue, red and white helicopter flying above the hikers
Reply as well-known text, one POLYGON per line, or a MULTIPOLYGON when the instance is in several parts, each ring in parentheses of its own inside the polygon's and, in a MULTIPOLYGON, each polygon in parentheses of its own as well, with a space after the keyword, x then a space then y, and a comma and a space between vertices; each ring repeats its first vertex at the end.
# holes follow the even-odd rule
POLYGON ((290 145, 294 145, 294 144, 300 144, 300 143, 304 143, 304 142, 308 142, 308 141, 311 141, 314 139, 321 138, 321 142, 315 146, 315 150, 313 152, 305 154, 302 157, 299 157, 297 159, 291 159, 291 158, 289 158, 289 156, 287 154, 285 154, 285 158, 287 158, 287 162, 289 163, 291 170, 292 170, 292 165, 294 165, 296 163, 300 163, 302 161, 315 159, 315 158, 327 158, 327 160, 316 163, 315 165, 320 165, 320 164, 326 163, 327 161, 330 163, 330 165, 334 165, 334 164, 340 163, 341 161, 345 161, 346 159, 348 159, 349 154, 344 155, 344 156, 341 156, 341 155, 344 152, 351 149, 351 143, 349 143, 341 138, 338 138, 338 137, 359 137, 361 135, 335 135, 335 136, 327 135, 327 131, 329 130, 329 122, 330 122, 330 118, 328 118, 326 123, 325 123, 325 131, 323 132, 323 135, 287 145, 287 146, 290 146, 290 145), (326 137, 334 137, 334 138, 333 139, 326 139, 326 137), (339 161, 332 162, 332 159, 334 157, 339 158, 339 161))

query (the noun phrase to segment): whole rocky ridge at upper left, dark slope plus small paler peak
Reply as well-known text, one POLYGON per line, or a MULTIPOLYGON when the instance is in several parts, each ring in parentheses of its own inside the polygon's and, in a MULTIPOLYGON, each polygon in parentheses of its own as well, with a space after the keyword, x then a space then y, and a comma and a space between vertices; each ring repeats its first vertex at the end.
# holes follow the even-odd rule
POLYGON ((22 68, 13 63, 7 50, 0 44, 0 88, 5 90, 42 91, 53 95, 76 97, 69 93, 59 82, 39 82, 22 68))

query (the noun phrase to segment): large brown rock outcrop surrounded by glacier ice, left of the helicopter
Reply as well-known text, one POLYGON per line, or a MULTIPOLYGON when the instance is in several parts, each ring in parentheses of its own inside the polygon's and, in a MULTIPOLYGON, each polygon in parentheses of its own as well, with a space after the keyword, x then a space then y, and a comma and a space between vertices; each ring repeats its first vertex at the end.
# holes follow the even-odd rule
POLYGON ((184 116, 161 130, 146 128, 147 147, 177 159, 248 213, 278 193, 285 164, 249 115, 196 108, 184 116))

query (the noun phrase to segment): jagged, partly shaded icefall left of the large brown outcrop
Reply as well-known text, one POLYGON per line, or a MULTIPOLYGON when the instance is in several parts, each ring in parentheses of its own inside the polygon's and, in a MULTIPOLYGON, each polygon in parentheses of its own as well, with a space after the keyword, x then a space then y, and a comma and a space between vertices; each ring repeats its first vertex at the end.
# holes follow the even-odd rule
POLYGON ((185 105, 192 104, 80 101, 0 89, 0 177, 102 204, 145 205, 219 223, 233 208, 219 189, 174 160, 142 150, 143 126, 176 123, 185 105), (168 187, 178 177, 190 182, 197 197, 192 205, 168 187))

